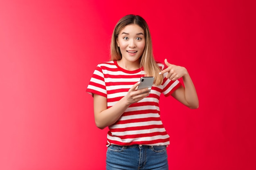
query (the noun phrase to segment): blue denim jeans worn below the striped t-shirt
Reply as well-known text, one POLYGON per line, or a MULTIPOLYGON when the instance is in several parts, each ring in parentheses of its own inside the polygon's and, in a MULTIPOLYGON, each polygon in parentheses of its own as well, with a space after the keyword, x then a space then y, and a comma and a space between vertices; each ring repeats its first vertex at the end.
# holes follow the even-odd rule
POLYGON ((168 170, 166 146, 110 145, 106 170, 168 170))

